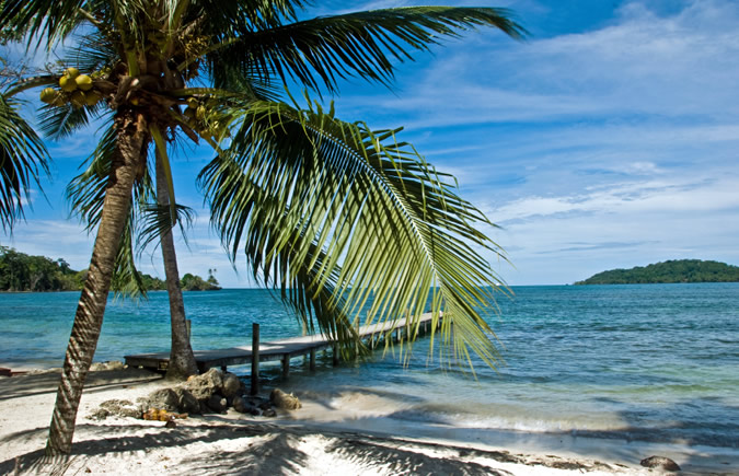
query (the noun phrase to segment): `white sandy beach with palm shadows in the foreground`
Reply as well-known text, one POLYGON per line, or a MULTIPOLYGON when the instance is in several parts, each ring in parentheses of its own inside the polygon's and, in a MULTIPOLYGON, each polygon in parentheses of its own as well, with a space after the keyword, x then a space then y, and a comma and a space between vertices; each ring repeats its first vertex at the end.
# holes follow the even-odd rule
MULTIPOLYGON (((132 418, 88 418, 102 402, 135 402, 168 385, 158 374, 134 369, 90 373, 72 455, 49 462, 42 455, 58 379, 57 371, 0 378, 0 474, 659 474, 638 462, 521 451, 516 442, 490 446, 393 437, 390 427, 368 431, 344 425, 356 422, 356 415, 305 397, 302 409, 273 419, 232 409, 177 420, 175 428, 132 418)), ((724 466, 720 473, 729 471, 724 466)))

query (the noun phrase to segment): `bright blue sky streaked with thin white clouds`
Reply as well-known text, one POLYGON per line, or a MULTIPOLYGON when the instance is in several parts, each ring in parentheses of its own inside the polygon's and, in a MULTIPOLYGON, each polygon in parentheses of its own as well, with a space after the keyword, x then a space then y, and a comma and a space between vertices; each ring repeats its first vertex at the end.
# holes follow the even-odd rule
MULTIPOLYGON (((319 2, 312 12, 413 4, 319 2)), ((425 2, 428 3, 428 2, 425 2)), ((463 5, 467 1, 432 2, 463 5)), ((477 1, 507 7, 531 32, 517 43, 493 30, 443 40, 402 65, 395 88, 347 82, 339 117, 373 128, 405 126, 408 140, 451 172, 461 194, 501 228, 494 269, 509 285, 563 285, 616 267, 678 258, 739 264, 739 3, 701 1, 477 1)), ((65 185, 94 131, 49 142, 48 201, 0 243, 89 264, 92 237, 68 218, 65 185)), ((181 272, 218 269, 249 287, 208 227, 194 186, 210 159, 175 162, 177 199, 198 218, 181 272)), ((141 269, 163 276, 159 251, 141 269)))

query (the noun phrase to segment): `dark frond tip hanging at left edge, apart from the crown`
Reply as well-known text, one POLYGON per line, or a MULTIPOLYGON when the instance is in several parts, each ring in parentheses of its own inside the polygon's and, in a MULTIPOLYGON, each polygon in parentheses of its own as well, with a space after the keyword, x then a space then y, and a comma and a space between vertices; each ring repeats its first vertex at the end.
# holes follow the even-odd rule
POLYGON ((18 114, 19 103, 0 94, 0 223, 12 230, 23 218, 31 188, 41 191, 41 176, 49 174, 50 159, 34 129, 18 114))

